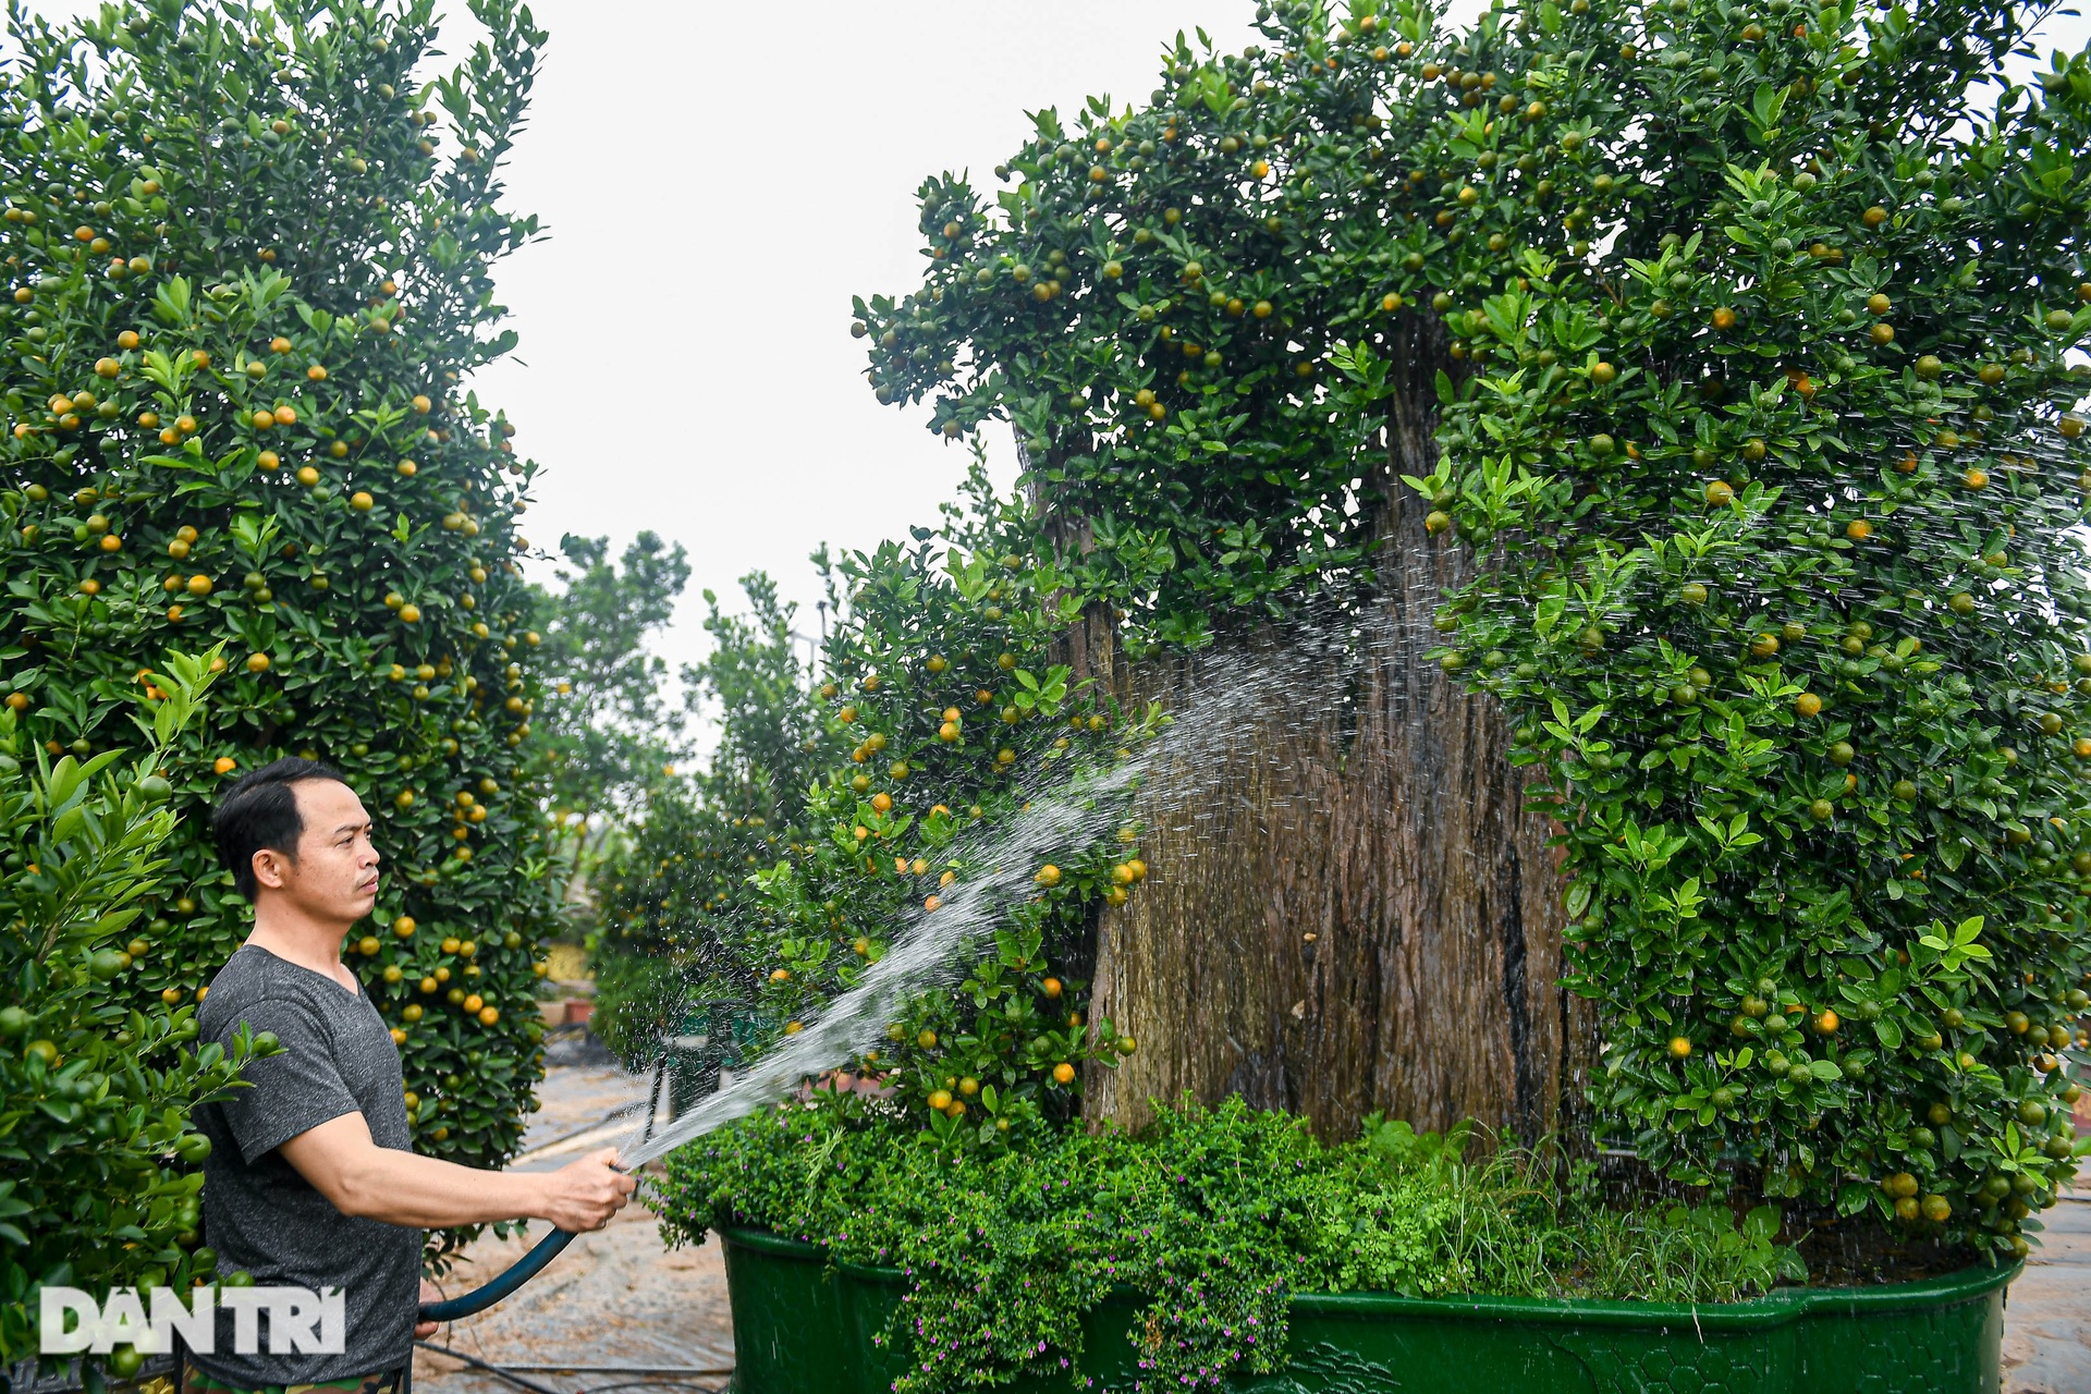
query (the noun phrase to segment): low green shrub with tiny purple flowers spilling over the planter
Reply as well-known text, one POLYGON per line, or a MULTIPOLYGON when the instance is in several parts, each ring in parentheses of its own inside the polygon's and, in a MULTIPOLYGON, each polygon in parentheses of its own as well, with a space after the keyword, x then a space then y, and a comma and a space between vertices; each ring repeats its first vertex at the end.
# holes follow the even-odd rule
POLYGON ((830 1258, 905 1269, 924 1354, 895 1388, 933 1394, 1079 1363, 1081 1315, 1112 1285, 1148 1298, 1135 1329, 1158 1386, 1271 1373, 1292 1292, 1503 1294, 1727 1302, 1798 1275, 1771 1208, 1606 1210, 1589 1172, 1418 1135, 1378 1116, 1324 1145, 1240 1099, 1163 1110, 1140 1137, 1056 1133, 981 1152, 782 1108, 682 1152, 652 1193, 696 1241, 751 1225, 830 1258))

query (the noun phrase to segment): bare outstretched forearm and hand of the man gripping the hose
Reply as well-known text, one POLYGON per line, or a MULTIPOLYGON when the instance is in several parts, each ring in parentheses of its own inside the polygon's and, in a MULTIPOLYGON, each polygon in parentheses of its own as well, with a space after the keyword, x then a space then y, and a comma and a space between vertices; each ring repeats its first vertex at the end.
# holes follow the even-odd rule
POLYGON ((414 1229, 531 1218, 579 1233, 606 1225, 638 1187, 611 1168, 615 1147, 552 1172, 475 1170, 378 1147, 355 1112, 299 1133, 282 1156, 335 1210, 414 1229))

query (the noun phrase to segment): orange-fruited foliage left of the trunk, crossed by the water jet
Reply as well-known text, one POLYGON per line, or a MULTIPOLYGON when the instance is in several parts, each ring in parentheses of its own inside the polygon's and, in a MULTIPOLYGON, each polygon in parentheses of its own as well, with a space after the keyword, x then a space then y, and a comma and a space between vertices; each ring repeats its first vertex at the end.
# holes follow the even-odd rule
MULTIPOLYGON (((744 1049, 797 1032, 949 886, 1004 872, 983 834, 1031 790, 1152 731, 1152 715, 1121 719, 1052 665, 1079 602, 1039 558, 1035 518, 997 502, 979 464, 939 529, 841 558, 832 585, 845 604, 815 694, 767 583, 749 579, 753 621, 713 612, 703 681, 726 713, 719 761, 700 800, 659 832, 648 821, 602 930, 636 955, 629 980, 646 989, 627 989, 623 1012, 652 1003, 652 1032, 705 1003, 740 1014, 744 1049)), ((924 984, 884 1041, 836 1064, 899 1091, 899 1116, 943 1147, 999 1149, 1073 1120, 1081 1066, 1135 1045, 1087 1020, 1094 913, 1131 895, 1135 853, 1131 826, 1046 849, 958 991, 924 984)), ((895 1116, 826 1099, 857 1122, 895 1116)))

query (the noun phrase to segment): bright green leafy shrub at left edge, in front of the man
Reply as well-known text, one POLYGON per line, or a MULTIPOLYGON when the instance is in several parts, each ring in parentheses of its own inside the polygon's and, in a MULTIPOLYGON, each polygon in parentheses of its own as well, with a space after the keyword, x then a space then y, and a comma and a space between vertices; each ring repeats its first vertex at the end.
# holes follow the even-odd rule
MULTIPOLYGON (((213 1273, 199 1248, 188 1108, 249 1055, 190 1051, 197 1005, 138 1005, 151 945, 136 924, 165 895, 178 830, 163 763, 211 686, 211 658, 169 654, 167 696, 138 759, 50 759, 0 706, 0 1367, 38 1348, 38 1290, 174 1285, 213 1273)), ((111 1371, 136 1371, 117 1350, 111 1371)))

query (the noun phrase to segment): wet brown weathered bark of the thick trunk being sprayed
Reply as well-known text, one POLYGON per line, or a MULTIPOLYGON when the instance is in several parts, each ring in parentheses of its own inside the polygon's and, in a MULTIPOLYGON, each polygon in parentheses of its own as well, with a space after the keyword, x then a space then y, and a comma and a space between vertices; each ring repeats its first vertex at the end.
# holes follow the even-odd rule
POLYGON ((1127 665, 1104 617, 1066 644, 1064 660, 1127 702, 1181 706, 1215 671, 1238 673, 1242 652, 1299 669, 1299 700, 1225 742, 1217 769, 1142 794, 1152 874, 1100 922, 1094 997, 1140 1049, 1092 1070, 1092 1124, 1140 1126, 1188 1091, 1305 1114, 1324 1137, 1386 1110, 1535 1139, 1581 1099, 1589 1022, 1558 986, 1564 882, 1547 819, 1524 811, 1501 708, 1424 658, 1468 560, 1428 539, 1399 483, 1437 456, 1443 341, 1424 328, 1407 351, 1361 658, 1303 660, 1286 635, 1255 633, 1127 665))

